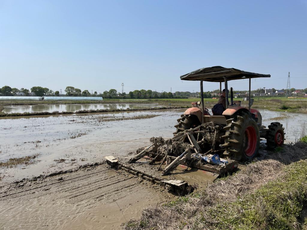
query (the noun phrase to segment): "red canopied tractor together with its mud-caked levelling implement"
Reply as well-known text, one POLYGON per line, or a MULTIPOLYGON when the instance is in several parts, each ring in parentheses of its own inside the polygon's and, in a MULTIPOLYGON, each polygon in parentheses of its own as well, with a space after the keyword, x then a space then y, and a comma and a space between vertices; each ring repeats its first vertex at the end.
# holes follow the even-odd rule
POLYGON ((127 164, 114 156, 107 156, 107 162, 152 182, 161 183, 168 190, 180 190, 182 194, 188 188, 185 181, 166 180, 149 174, 139 169, 144 164, 142 160, 152 166, 159 166, 157 171, 162 171, 162 176, 170 174, 179 165, 184 165, 186 170, 196 168, 210 171, 216 178, 235 170, 239 161, 254 158, 259 151, 260 138, 266 139, 266 146, 270 150, 282 146, 285 140, 282 124, 273 122, 266 128, 262 125, 260 112, 251 109, 254 101, 251 98, 251 79, 269 77, 270 75, 221 66, 202 68, 182 75, 181 80, 200 81, 201 98, 199 102, 193 102, 192 108, 187 109, 177 120, 174 136, 167 140, 162 137, 150 138, 152 144, 137 152, 127 164), (241 101, 234 100, 232 88, 229 102, 228 82, 239 79, 249 81, 248 106, 241 106, 241 101), (220 82, 220 95, 224 82, 226 108, 219 115, 211 115, 209 109, 204 107, 204 81, 220 82))

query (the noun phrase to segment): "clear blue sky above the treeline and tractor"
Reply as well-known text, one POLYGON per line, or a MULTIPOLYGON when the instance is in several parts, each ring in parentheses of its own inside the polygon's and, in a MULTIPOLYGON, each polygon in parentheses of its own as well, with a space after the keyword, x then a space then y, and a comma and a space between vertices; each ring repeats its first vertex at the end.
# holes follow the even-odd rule
POLYGON ((0 21, 0 87, 199 91, 179 76, 216 65, 307 87, 306 1, 0 0, 0 21))

